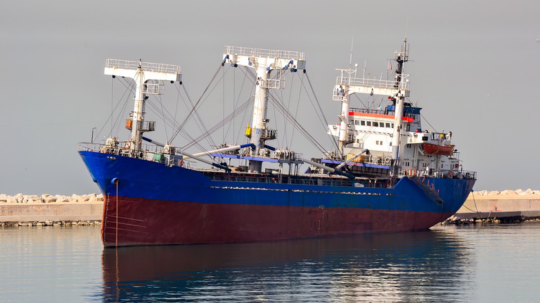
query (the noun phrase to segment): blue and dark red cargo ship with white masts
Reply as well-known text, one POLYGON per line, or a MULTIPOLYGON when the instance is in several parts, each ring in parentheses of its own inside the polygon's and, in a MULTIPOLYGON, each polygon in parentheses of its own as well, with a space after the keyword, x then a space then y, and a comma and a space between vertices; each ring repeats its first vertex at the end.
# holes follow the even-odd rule
POLYGON ((357 77, 356 66, 339 69, 332 100, 341 114, 327 125, 334 146, 307 158, 273 146, 278 131, 267 117, 271 92, 283 89, 291 73, 306 73, 302 52, 226 46, 221 66, 244 68, 255 84, 246 143, 197 153, 144 134, 156 125, 144 118, 148 96, 162 94, 165 82, 181 85, 180 66, 107 59, 105 74, 132 79, 135 97, 128 140, 79 143, 105 196, 103 245, 402 232, 444 221, 467 199, 476 172, 462 168, 451 132, 422 127, 421 108, 408 101, 407 61, 404 40, 387 80, 357 77), (354 108, 354 94, 381 96, 386 104, 354 108))

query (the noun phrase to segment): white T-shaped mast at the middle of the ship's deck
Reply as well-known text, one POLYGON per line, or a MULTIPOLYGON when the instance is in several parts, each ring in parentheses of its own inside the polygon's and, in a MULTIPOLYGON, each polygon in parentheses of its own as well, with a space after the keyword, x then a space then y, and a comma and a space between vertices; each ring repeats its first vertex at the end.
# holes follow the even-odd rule
MULTIPOLYGON (((267 127, 267 101, 269 89, 285 88, 285 71, 305 71, 304 53, 291 50, 269 50, 262 48, 246 48, 225 46, 222 64, 232 66, 247 66, 255 68, 257 82, 253 104, 253 120, 251 127, 246 129, 246 136, 256 147, 252 156, 264 156, 264 142, 276 138, 276 130, 267 127), (270 77, 271 71, 277 71, 276 76, 270 77)), ((262 162, 250 160, 249 170, 261 172, 262 162)))

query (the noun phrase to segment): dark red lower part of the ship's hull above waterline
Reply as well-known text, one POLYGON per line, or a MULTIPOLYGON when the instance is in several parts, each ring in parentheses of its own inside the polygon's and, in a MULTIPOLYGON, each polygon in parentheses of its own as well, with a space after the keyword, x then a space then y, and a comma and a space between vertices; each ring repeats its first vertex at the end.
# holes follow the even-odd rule
POLYGON ((104 246, 201 244, 424 230, 446 212, 156 201, 105 201, 104 246), (118 207, 117 207, 118 205, 118 207), (117 212, 118 209, 118 212, 117 212), (142 211, 144 210, 144 211, 142 211))

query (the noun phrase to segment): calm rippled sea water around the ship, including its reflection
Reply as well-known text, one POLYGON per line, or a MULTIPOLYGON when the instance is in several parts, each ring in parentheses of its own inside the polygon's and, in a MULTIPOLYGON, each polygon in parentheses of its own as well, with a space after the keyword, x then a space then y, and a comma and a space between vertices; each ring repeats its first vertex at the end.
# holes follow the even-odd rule
POLYGON ((99 229, 0 229, 0 302, 540 301, 540 222, 118 250, 99 229))

